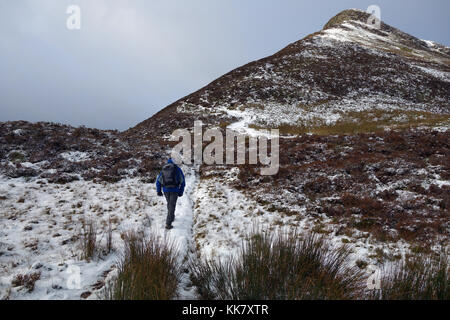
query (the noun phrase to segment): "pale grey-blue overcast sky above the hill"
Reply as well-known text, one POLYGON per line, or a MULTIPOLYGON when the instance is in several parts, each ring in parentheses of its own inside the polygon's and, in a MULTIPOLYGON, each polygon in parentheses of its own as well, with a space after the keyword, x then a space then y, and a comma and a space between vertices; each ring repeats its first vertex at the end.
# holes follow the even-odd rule
POLYGON ((0 0, 0 121, 125 130, 348 8, 450 46, 448 0, 0 0), (81 30, 66 28, 71 4, 81 30))

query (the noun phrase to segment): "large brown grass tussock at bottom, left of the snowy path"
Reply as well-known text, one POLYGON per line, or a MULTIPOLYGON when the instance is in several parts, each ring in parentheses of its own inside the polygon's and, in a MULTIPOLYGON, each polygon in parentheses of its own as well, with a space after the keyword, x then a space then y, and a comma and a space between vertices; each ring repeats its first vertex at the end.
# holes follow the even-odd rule
POLYGON ((124 235, 125 250, 118 275, 107 288, 110 300, 169 300, 175 298, 181 279, 177 250, 155 236, 124 235))

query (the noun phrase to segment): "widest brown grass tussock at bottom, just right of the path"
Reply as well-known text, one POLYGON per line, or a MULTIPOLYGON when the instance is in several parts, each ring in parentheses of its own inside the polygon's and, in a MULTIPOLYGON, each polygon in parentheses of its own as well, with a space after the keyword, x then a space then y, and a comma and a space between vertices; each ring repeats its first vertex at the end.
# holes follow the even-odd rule
POLYGON ((236 257, 190 269, 202 299, 358 299, 364 276, 348 267, 349 254, 317 234, 253 233, 236 257))

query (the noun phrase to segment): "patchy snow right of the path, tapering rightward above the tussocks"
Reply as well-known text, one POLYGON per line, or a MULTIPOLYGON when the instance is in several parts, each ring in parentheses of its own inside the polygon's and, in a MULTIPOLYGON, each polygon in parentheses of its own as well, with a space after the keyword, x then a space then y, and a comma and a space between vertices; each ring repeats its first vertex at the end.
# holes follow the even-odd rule
MULTIPOLYGON (((227 259, 239 252, 246 236, 257 229, 276 234, 296 230, 300 234, 311 231, 317 224, 328 226, 334 231, 331 219, 326 216, 313 218, 306 209, 297 208, 299 213, 288 216, 273 211, 247 197, 243 192, 226 184, 233 178, 203 179, 198 183, 193 198, 195 199, 194 241, 200 256, 206 259, 227 259)), ((344 243, 352 247, 349 264, 362 260, 369 265, 382 268, 391 262, 381 261, 380 255, 404 257, 409 245, 404 241, 397 243, 380 243, 372 237, 328 236, 334 247, 344 243)))

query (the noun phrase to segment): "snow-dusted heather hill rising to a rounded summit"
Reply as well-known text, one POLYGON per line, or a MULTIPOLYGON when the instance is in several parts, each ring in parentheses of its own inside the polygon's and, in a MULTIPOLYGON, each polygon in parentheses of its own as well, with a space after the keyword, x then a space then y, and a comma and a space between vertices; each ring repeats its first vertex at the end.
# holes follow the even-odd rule
POLYGON ((344 11, 323 30, 227 73, 127 134, 167 134, 192 127, 193 119, 287 134, 448 126, 450 48, 385 23, 376 29, 368 18, 344 11))

